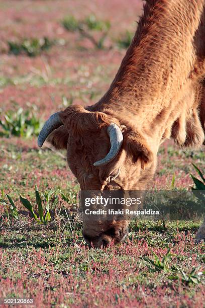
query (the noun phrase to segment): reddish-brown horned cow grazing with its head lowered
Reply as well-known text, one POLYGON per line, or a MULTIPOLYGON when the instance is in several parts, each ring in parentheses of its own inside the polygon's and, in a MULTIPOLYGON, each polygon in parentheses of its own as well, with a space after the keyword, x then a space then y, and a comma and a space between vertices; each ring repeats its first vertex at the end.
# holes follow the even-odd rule
MULTIPOLYGON (((205 0, 147 0, 108 92, 52 115, 38 139, 67 148, 82 190, 145 190, 159 145, 199 148, 205 122, 205 0)), ((128 221, 83 223, 94 246, 120 242, 128 221)), ((205 237, 201 226, 197 238, 205 237)))

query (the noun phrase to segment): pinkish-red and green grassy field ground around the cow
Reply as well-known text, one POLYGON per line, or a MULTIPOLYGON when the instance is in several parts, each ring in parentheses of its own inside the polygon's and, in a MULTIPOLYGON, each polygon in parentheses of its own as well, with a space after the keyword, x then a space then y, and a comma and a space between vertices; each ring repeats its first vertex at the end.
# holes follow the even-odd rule
MULTIPOLYGON (((45 120, 67 104, 96 102, 125 54, 115 40, 126 29, 134 31, 140 12, 137 0, 129 7, 121 0, 2 0, 1 120, 5 112, 20 107, 34 109, 45 120), (90 13, 111 22, 104 49, 96 50, 60 24, 66 15, 81 19, 90 13), (59 43, 36 57, 9 54, 8 40, 31 37, 59 43)), ((36 139, 0 137, 0 189, 3 195, 9 192, 20 214, 19 219, 7 218, 0 204, 0 298, 34 298, 36 307, 204 306, 204 243, 193 241, 199 221, 132 221, 125 243, 88 249, 81 236, 78 185, 65 153, 48 144, 39 149, 36 139), (52 189, 51 221, 45 225, 36 223, 19 200, 23 195, 36 210, 35 185, 42 197, 52 189), (141 259, 154 260, 152 252, 161 259, 171 247, 173 255, 161 268, 141 259)), ((195 174, 191 163, 205 174, 204 159, 204 148, 185 151, 165 142, 150 188, 190 190, 189 174, 195 174)))

